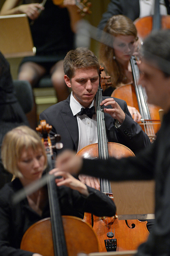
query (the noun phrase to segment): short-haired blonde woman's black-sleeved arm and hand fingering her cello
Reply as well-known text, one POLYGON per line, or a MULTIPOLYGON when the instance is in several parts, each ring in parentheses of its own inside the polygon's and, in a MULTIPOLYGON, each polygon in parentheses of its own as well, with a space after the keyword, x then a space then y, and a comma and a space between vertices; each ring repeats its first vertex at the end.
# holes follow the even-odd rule
MULTIPOLYGON (((65 197, 69 215, 71 212, 71 215, 77 216, 76 214, 78 211, 90 212, 96 216, 111 217, 115 215, 116 207, 113 200, 104 195, 101 191, 86 186, 69 173, 58 172, 57 168, 53 169, 50 173, 53 173, 56 177, 62 176, 62 178, 56 179, 56 183, 61 189, 65 190, 65 193, 67 194, 65 194, 65 197), (71 188, 71 190, 66 189, 65 186, 71 188), (74 214, 72 214, 73 211, 74 214)), ((62 202, 63 200, 64 199, 62 199, 62 202)))

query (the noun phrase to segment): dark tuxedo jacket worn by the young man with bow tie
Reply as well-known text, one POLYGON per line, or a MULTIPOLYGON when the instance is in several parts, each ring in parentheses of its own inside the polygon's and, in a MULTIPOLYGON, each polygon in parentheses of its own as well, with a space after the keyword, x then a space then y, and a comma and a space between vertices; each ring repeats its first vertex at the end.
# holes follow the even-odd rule
MULTIPOLYGON (((133 121, 128 111, 127 103, 121 99, 114 99, 126 113, 126 117, 122 125, 116 129, 114 126, 115 119, 105 113, 108 141, 124 144, 136 153, 141 148, 150 144, 150 140, 147 134, 142 131, 140 125, 133 121)), ((46 120, 46 123, 53 126, 50 133, 52 136, 54 134, 61 135, 62 150, 67 148, 77 152, 79 143, 78 123, 77 117, 72 114, 69 102, 70 96, 66 100, 50 106, 50 108, 40 114, 40 120, 46 120)), ((108 106, 108 108, 111 108, 111 106, 108 106)), ((62 152, 62 150, 59 152, 62 152)))

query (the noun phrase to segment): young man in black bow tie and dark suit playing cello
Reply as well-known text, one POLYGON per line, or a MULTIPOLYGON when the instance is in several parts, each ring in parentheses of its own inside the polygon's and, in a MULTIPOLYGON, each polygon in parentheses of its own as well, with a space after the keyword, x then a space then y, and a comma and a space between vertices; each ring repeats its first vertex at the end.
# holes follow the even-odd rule
MULTIPOLYGON (((78 152, 84 146, 98 142, 96 113, 90 118, 79 115, 79 112, 81 108, 95 108, 99 68, 98 58, 86 48, 71 50, 64 59, 64 80, 72 92, 66 100, 40 114, 40 120, 45 119, 53 126, 51 135, 61 135, 62 150, 78 152)), ((135 154, 150 144, 147 134, 132 119, 124 100, 103 97, 101 104, 105 108, 108 141, 124 144, 135 154)), ((93 186, 91 181, 85 182, 93 186)))

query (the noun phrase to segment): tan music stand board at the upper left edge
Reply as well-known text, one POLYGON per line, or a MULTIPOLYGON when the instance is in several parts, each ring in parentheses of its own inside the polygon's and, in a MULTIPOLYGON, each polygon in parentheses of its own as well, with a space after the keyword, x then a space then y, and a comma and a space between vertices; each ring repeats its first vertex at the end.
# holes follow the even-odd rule
POLYGON ((0 16, 0 35, 0 51, 6 58, 35 55, 26 14, 0 16))

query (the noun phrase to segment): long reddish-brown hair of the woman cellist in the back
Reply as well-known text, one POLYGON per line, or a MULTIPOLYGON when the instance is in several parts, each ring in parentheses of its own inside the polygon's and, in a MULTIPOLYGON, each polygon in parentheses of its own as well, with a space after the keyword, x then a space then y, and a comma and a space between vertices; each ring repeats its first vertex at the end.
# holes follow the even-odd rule
POLYGON ((113 58, 114 49, 112 46, 114 37, 118 35, 133 35, 137 40, 137 30, 130 18, 124 15, 114 15, 108 20, 104 32, 109 35, 106 36, 106 34, 104 34, 105 38, 103 38, 102 41, 106 41, 106 44, 101 43, 100 45, 99 61, 106 69, 106 73, 111 76, 112 87, 115 88, 118 87, 118 84, 123 83, 125 75, 122 67, 116 59, 113 58))

